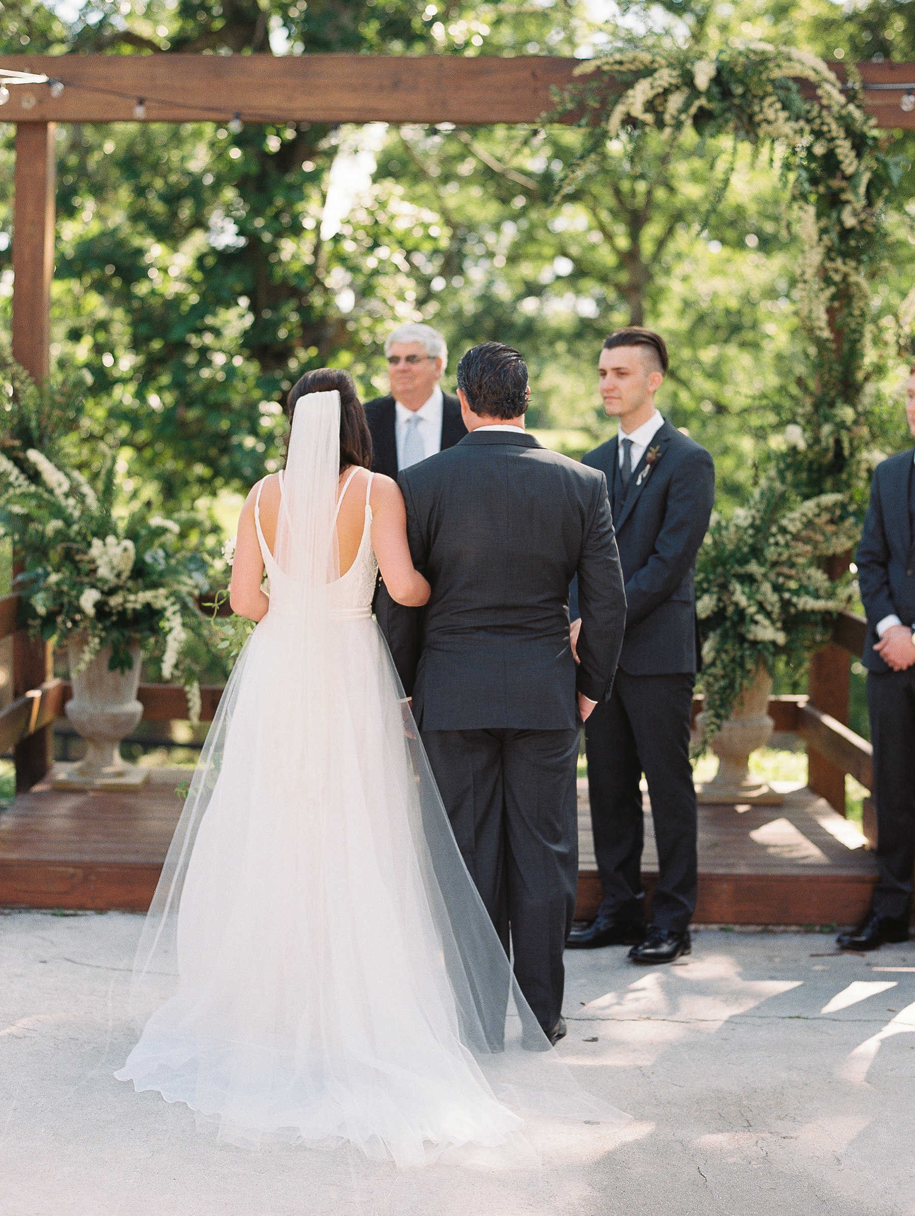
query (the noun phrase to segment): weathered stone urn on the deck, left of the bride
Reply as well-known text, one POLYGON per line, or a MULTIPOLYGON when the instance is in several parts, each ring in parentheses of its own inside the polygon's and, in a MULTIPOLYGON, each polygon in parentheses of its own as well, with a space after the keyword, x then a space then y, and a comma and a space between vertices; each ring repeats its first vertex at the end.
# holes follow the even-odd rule
MULTIPOLYGON (((70 672, 79 664, 83 642, 67 643, 70 672)), ((74 730, 86 741, 86 754, 77 764, 57 765, 56 789, 139 789, 149 773, 128 764, 120 755, 120 742, 143 716, 136 699, 140 685, 140 643, 130 647, 134 660, 129 671, 109 671, 111 646, 105 646, 85 671, 70 675, 73 698, 64 713, 74 730)))

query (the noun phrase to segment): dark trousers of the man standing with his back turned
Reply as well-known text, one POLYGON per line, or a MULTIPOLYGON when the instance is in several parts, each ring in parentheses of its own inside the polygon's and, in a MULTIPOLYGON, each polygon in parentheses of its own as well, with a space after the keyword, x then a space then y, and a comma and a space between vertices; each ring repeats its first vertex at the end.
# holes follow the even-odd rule
POLYGON ((544 1031, 563 1012, 578 886, 580 732, 422 731, 470 877, 544 1031))

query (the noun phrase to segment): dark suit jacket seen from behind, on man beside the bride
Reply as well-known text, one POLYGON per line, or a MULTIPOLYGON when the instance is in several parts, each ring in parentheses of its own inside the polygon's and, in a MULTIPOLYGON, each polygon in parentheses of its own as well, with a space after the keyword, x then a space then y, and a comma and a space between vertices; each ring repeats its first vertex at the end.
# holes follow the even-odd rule
POLYGON ((523 430, 478 430, 400 474, 424 609, 377 615, 424 731, 567 730, 609 694, 626 599, 606 480, 523 430), (576 669, 569 581, 578 573, 576 669))

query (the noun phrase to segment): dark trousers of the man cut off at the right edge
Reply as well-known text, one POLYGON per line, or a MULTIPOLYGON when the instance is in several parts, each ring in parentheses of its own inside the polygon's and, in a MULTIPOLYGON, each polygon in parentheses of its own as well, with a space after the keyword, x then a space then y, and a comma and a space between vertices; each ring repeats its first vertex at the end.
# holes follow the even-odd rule
POLYGON ((868 672, 879 916, 908 917, 915 863, 915 668, 868 672))

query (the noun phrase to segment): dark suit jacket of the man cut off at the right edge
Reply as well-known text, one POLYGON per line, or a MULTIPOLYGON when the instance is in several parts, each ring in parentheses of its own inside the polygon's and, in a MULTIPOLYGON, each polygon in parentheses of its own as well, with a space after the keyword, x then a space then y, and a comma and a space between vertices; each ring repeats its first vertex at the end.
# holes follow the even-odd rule
POLYGON ((881 461, 870 484, 870 505, 854 561, 858 565, 868 637, 862 663, 868 671, 889 671, 874 647, 877 624, 896 614, 915 623, 915 536, 909 523, 909 482, 915 447, 881 461))

